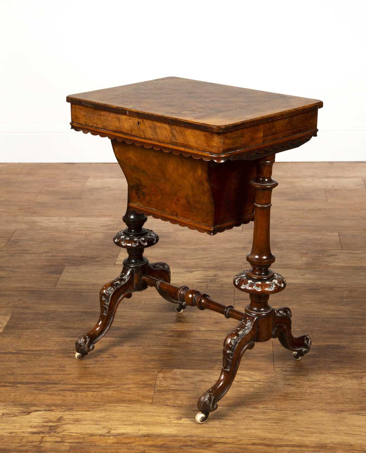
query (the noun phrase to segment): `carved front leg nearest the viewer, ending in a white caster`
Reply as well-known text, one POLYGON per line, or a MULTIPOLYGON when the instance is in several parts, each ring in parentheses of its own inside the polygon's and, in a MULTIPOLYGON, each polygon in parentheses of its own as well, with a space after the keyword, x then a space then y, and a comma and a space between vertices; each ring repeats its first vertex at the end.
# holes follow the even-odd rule
POLYGON ((255 344, 258 329, 258 318, 246 315, 239 325, 227 335, 222 348, 223 361, 220 377, 217 382, 204 392, 197 403, 200 410, 196 421, 203 423, 208 414, 217 409, 217 401, 226 394, 234 381, 241 357, 247 349, 255 344))

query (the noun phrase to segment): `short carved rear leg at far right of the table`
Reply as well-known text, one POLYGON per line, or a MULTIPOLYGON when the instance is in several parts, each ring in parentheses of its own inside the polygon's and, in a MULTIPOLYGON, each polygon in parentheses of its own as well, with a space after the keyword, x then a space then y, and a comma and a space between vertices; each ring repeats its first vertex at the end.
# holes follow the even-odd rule
POLYGON ((308 335, 293 337, 291 333, 291 310, 287 307, 274 309, 273 338, 278 338, 283 347, 293 351, 296 360, 300 360, 310 351, 311 339, 308 335))

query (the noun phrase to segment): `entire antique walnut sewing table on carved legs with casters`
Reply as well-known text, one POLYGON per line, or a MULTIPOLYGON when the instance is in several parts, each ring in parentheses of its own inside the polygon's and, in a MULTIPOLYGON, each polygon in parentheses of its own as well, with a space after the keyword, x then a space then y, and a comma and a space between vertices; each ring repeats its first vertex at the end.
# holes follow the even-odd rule
POLYGON ((127 228, 114 236, 127 251, 121 274, 100 292, 95 327, 76 342, 86 356, 111 327, 120 301, 154 286, 176 304, 239 321, 227 335, 217 382, 198 400, 196 420, 205 421, 229 390, 241 357, 255 342, 278 338, 295 359, 309 352, 308 335, 293 337, 289 308, 271 308, 270 294, 285 289, 270 265, 271 178, 274 155, 303 145, 317 133, 321 101, 283 94, 166 77, 67 96, 71 127, 111 139, 128 183, 127 228), (170 284, 165 263, 149 263, 144 249, 158 235, 144 228, 146 215, 214 235, 254 220, 250 269, 234 277, 249 294, 241 313, 187 286, 170 284))

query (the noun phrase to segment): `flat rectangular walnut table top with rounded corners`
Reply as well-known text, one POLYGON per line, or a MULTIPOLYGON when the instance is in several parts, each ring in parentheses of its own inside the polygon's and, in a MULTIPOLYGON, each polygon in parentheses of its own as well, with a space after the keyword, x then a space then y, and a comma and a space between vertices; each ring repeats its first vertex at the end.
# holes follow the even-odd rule
POLYGON ((322 101, 164 77, 67 96, 72 104, 169 124, 228 132, 317 110, 322 101))

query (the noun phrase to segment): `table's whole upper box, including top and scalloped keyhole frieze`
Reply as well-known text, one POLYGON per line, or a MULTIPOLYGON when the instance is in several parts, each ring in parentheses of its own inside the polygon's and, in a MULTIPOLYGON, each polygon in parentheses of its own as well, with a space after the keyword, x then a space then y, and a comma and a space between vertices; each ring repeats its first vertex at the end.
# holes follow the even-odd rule
POLYGON ((323 106, 315 99, 179 77, 70 95, 67 101, 74 130, 218 163, 302 145, 317 134, 323 106))

